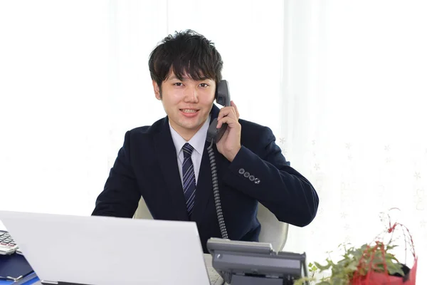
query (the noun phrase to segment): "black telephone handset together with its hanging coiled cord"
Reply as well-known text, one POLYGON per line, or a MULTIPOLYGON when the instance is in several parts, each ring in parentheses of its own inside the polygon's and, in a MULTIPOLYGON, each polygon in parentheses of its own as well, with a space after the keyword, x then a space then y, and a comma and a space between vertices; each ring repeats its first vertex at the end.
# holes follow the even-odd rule
MULTIPOLYGON (((215 91, 215 100, 216 103, 223 106, 230 106, 230 92, 228 90, 228 82, 225 80, 221 80, 216 86, 215 91)), ((218 125, 218 119, 214 118, 212 120, 211 125, 209 125, 208 133, 206 135, 206 140, 211 142, 211 145, 208 147, 209 152, 209 161, 211 162, 211 172, 212 172, 212 187, 214 188, 214 199, 215 199, 215 208, 216 208, 216 216, 218 217, 219 229, 221 231, 221 237, 223 239, 228 239, 226 224, 224 222, 222 207, 221 207, 221 199, 219 197, 218 191, 218 177, 216 175, 216 162, 215 162, 215 154, 212 146, 214 143, 221 140, 224 132, 227 130, 228 125, 224 123, 221 125, 221 128, 217 129, 216 125, 218 125)))

